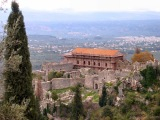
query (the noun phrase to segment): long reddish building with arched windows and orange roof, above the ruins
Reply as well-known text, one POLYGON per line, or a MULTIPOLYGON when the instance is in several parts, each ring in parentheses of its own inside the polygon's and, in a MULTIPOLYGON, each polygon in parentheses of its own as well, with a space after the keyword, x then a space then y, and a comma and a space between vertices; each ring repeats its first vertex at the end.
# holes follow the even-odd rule
POLYGON ((118 50, 76 48, 64 55, 64 62, 73 63, 74 68, 116 70, 118 61, 123 61, 123 57, 123 54, 118 50))

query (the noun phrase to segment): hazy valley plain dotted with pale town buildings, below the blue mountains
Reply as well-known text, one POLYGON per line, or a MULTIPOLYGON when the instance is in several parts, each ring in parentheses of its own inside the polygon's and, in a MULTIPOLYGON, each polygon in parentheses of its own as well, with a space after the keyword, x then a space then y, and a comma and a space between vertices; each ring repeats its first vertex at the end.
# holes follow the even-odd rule
POLYGON ((56 38, 54 36, 29 36, 29 48, 33 69, 39 69, 43 62, 60 62, 63 54, 72 51, 76 47, 105 48, 120 50, 130 60, 135 48, 151 52, 157 60, 160 60, 160 37, 155 36, 124 36, 103 38, 96 36, 93 39, 84 38, 56 38))

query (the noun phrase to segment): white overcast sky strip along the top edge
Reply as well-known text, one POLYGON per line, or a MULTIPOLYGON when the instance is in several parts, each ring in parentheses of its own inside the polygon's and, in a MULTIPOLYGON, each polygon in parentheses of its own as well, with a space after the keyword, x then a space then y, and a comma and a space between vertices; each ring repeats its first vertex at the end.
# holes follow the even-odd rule
MULTIPOLYGON (((2 1, 2 0, 0 0, 2 1)), ((10 3, 11 0, 8 0, 10 3)), ((16 0, 21 10, 58 12, 158 11, 160 0, 16 0)))

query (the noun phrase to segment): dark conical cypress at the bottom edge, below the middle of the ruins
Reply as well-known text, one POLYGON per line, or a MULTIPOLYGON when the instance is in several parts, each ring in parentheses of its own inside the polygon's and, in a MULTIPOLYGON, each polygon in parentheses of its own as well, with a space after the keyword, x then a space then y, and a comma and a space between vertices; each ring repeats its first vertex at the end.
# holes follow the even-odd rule
POLYGON ((80 85, 75 87, 75 95, 72 102, 71 120, 79 120, 84 116, 80 85))

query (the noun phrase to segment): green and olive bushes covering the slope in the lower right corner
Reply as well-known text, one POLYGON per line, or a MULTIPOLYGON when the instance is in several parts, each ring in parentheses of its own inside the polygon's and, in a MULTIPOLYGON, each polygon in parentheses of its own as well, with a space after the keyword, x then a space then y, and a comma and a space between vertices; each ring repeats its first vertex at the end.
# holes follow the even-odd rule
MULTIPOLYGON (((142 87, 138 90, 124 89, 123 100, 119 104, 106 103, 100 109, 93 110, 91 113, 91 120, 99 118, 102 120, 159 120, 160 118, 160 81, 159 81, 159 66, 147 66, 146 69, 141 71, 143 80, 141 81, 142 87)), ((121 84, 121 83, 118 83, 121 84)), ((108 85, 108 84, 107 84, 108 85)), ((115 85, 119 86, 119 85, 115 85)), ((115 88, 113 86, 113 88, 115 88)), ((107 101, 114 102, 117 95, 117 89, 113 89, 112 93, 107 94, 107 101)))

